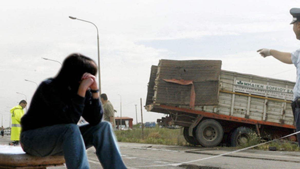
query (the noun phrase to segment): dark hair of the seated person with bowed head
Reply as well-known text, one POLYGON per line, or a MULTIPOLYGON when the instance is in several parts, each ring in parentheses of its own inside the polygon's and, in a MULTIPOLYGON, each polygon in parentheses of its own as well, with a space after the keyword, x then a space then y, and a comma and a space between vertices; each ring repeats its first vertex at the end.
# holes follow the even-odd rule
POLYGON ((74 53, 64 59, 61 69, 55 79, 66 85, 72 85, 81 81, 81 77, 85 72, 96 75, 96 63, 89 57, 74 53))

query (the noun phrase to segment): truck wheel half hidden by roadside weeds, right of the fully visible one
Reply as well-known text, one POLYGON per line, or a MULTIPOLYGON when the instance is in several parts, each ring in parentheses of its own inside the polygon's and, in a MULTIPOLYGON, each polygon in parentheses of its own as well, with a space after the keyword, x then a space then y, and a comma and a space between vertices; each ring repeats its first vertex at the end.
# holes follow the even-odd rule
POLYGON ((232 147, 243 145, 249 141, 249 134, 253 131, 248 127, 236 128, 230 137, 230 144, 232 147))

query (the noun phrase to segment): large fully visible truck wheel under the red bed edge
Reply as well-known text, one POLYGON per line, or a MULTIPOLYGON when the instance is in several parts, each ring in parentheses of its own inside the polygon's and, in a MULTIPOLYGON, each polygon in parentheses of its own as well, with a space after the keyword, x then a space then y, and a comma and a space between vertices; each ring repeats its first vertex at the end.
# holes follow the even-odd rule
POLYGON ((197 126, 196 138, 201 146, 217 146, 223 139, 223 128, 219 122, 213 119, 203 120, 197 126))

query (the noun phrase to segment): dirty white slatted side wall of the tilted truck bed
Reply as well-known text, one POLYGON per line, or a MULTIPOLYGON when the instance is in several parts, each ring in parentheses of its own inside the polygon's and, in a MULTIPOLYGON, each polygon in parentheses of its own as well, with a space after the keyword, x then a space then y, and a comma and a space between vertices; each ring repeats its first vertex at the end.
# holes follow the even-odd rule
MULTIPOLYGON (((270 79, 255 75, 241 74, 237 72, 221 71, 220 89, 232 93, 219 93, 218 105, 215 109, 206 109, 205 112, 217 113, 220 115, 229 115, 239 118, 247 118, 259 121, 268 121, 293 125, 292 109, 290 100, 280 100, 274 98, 269 100, 265 97, 256 98, 249 93, 248 96, 239 95, 234 91, 235 81, 251 81, 259 84, 268 84, 292 90, 294 82, 270 79)), ((204 111, 198 106, 195 110, 204 111)))

